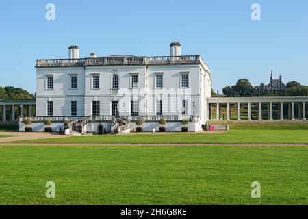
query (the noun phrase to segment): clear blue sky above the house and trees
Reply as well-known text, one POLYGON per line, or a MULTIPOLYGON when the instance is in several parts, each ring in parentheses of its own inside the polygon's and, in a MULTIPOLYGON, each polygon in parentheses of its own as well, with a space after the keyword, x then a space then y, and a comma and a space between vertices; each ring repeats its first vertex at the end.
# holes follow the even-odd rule
POLYGON ((248 78, 268 83, 308 84, 308 1, 2 1, 0 4, 0 86, 36 91, 35 60, 66 58, 79 45, 91 52, 168 55, 181 42, 183 55, 202 55, 215 90, 248 78), (55 4, 55 21, 45 6, 55 4), (251 5, 261 5, 261 21, 251 5))

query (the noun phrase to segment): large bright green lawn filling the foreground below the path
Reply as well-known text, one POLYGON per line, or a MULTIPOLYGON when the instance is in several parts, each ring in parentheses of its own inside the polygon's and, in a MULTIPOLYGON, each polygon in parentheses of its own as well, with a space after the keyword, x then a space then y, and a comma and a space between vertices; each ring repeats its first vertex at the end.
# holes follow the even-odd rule
POLYGON ((0 205, 307 205, 308 148, 0 147, 0 205), (45 183, 55 182, 55 198, 45 183), (251 198, 251 183, 261 198, 251 198))

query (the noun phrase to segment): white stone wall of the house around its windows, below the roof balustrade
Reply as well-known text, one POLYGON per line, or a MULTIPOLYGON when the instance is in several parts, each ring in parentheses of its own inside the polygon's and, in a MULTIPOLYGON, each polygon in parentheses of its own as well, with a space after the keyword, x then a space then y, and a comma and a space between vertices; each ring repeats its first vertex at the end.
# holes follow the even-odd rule
POLYGON ((206 99, 211 96, 211 77, 204 64, 157 66, 90 66, 38 68, 36 115, 47 116, 47 101, 53 101, 53 116, 70 116, 70 101, 77 101, 77 116, 92 115, 92 101, 100 101, 100 114, 112 114, 111 101, 120 101, 120 115, 131 115, 131 99, 139 99, 139 115, 157 114, 157 100, 163 101, 163 115, 181 115, 182 100, 188 101, 187 115, 207 120, 206 99), (189 74, 189 88, 181 88, 181 73, 189 74), (138 73, 138 88, 131 88, 131 73, 138 73), (163 88, 155 87, 157 73, 163 75, 163 88), (99 89, 92 88, 92 75, 98 74, 99 89), (112 75, 119 76, 118 94, 112 92, 112 75), (46 77, 53 75, 54 89, 46 89, 46 77), (77 90, 70 90, 70 75, 77 75, 77 90), (193 110, 193 103, 195 108, 193 110))

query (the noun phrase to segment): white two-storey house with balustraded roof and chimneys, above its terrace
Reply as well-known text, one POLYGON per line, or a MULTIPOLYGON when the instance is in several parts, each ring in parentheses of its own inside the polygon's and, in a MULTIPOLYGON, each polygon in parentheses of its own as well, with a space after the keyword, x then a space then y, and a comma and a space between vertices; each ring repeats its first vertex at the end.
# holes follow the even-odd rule
MULTIPOLYGON (((196 116, 207 120, 211 74, 200 55, 110 55, 37 60, 36 116, 196 116)), ((195 118, 196 120, 196 118, 195 118)), ((198 129, 199 129, 198 128, 198 129)))

